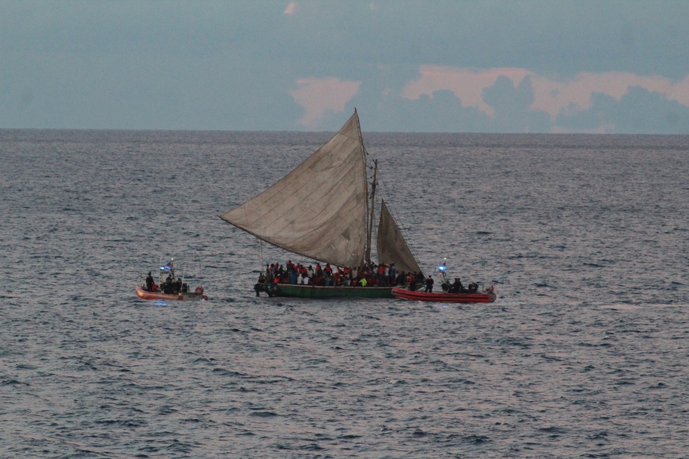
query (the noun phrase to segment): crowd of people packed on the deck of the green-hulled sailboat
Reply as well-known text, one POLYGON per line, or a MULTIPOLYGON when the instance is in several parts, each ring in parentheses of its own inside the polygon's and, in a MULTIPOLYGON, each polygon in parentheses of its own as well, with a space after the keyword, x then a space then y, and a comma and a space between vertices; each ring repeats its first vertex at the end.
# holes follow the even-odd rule
POLYGON ((311 286, 342 286, 342 287, 394 287, 409 286, 415 289, 417 284, 424 282, 422 273, 398 272, 395 264, 368 263, 364 266, 350 268, 332 267, 329 263, 321 266, 294 264, 291 260, 287 264, 266 264, 265 272, 260 273, 258 282, 254 286, 256 296, 271 284, 294 284, 311 286))

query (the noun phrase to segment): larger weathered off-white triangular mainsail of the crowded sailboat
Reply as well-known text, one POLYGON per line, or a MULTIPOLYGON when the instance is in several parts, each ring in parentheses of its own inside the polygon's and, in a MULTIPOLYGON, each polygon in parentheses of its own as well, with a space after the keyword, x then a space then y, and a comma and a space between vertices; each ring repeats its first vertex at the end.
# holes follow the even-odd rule
POLYGON ((360 266, 367 244, 365 154, 355 110, 296 169, 220 217, 293 253, 334 266, 360 266))

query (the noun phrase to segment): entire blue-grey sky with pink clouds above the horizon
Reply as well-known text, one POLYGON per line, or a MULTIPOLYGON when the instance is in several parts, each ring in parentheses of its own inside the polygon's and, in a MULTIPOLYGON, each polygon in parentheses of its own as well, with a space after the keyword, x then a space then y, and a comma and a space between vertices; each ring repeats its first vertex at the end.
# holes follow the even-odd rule
POLYGON ((0 0, 0 129, 689 134, 689 1, 0 0))

